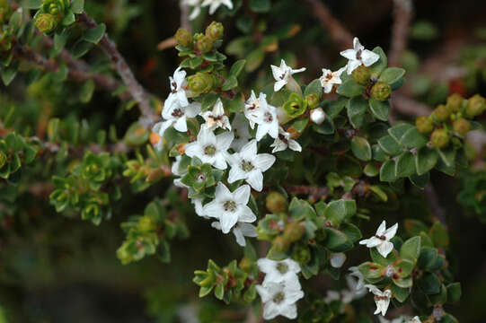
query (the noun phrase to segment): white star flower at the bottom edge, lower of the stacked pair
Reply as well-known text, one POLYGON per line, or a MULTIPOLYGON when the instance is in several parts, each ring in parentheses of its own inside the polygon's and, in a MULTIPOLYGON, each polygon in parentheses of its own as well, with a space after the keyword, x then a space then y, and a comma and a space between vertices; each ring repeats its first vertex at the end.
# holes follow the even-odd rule
POLYGON ((256 286, 263 302, 263 319, 275 319, 282 315, 287 319, 296 319, 296 301, 304 297, 304 292, 291 286, 268 283, 256 286))

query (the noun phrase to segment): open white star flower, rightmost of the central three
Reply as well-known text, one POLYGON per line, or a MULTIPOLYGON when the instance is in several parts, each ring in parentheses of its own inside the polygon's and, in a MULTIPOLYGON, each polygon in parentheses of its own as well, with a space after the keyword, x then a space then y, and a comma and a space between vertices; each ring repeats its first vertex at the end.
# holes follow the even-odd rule
POLYGON ((254 190, 261 192, 263 172, 270 169, 276 158, 270 153, 257 153, 257 141, 253 139, 239 153, 228 156, 227 160, 231 165, 228 183, 244 179, 254 190))

